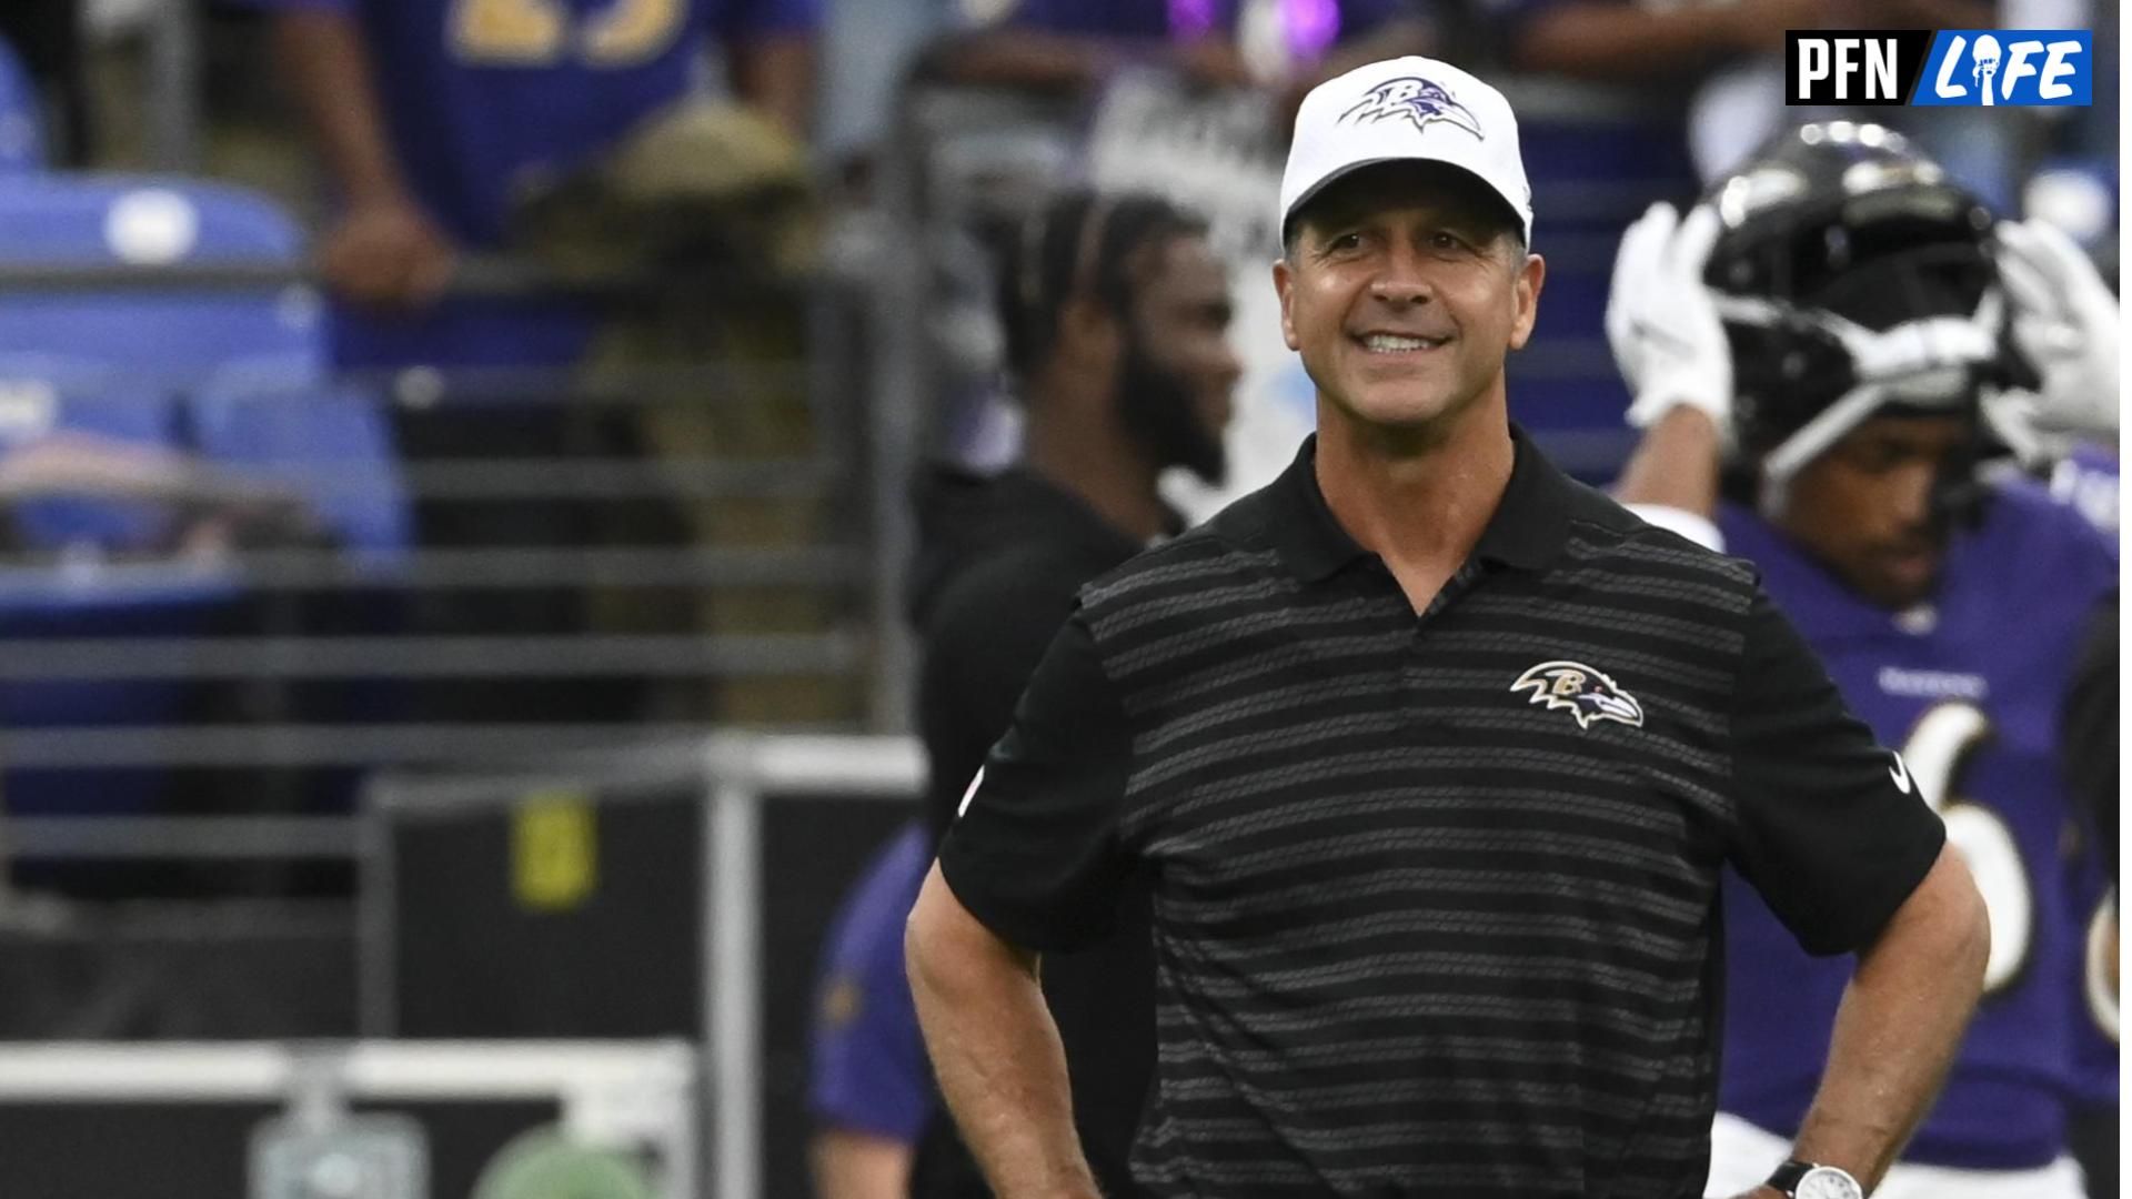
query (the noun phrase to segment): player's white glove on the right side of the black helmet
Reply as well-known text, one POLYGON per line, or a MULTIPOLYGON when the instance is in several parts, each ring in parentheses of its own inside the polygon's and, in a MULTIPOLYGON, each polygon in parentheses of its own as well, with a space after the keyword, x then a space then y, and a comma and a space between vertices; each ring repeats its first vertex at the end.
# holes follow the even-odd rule
POLYGON ((2117 297, 2070 237, 2040 220, 1998 224, 2013 339, 2042 373, 2036 433, 2117 437, 2117 297))

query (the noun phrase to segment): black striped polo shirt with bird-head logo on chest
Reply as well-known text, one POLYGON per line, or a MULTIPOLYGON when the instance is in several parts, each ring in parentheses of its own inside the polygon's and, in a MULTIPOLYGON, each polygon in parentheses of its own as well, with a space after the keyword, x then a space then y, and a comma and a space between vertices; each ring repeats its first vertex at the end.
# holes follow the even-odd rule
POLYGON ((1416 614, 1313 444, 1087 585, 940 868, 1002 939, 1151 868, 1156 1195, 1701 1195, 1718 868, 1870 943, 1938 817, 1755 567, 1516 465, 1416 614))

